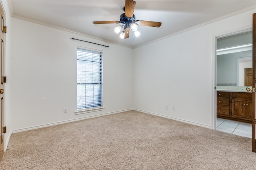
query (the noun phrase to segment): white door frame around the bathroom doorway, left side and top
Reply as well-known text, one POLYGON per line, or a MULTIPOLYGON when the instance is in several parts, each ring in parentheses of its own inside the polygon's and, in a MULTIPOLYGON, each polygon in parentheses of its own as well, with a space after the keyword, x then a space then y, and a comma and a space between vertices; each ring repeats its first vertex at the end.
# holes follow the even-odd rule
POLYGON ((243 33, 246 31, 252 30, 252 27, 244 27, 242 29, 237 29, 234 31, 225 31, 222 33, 218 33, 216 35, 212 36, 212 77, 213 77, 213 84, 212 84, 212 129, 216 130, 216 119, 217 119, 217 92, 216 92, 216 67, 217 67, 217 56, 216 56, 216 44, 217 44, 217 37, 225 37, 227 35, 232 35, 232 34, 238 34, 238 33, 243 33))

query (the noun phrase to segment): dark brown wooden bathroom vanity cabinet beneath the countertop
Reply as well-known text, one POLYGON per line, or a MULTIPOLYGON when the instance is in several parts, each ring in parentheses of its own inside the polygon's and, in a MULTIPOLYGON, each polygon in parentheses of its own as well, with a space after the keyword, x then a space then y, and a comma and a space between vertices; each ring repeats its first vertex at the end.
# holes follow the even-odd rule
POLYGON ((252 120, 252 93, 217 92, 217 117, 252 120))

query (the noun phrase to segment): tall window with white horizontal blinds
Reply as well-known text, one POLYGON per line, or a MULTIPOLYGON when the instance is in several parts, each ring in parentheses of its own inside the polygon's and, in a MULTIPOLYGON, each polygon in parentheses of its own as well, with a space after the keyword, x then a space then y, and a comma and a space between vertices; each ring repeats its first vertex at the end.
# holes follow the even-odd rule
POLYGON ((102 107, 102 52, 77 49, 77 110, 102 107))

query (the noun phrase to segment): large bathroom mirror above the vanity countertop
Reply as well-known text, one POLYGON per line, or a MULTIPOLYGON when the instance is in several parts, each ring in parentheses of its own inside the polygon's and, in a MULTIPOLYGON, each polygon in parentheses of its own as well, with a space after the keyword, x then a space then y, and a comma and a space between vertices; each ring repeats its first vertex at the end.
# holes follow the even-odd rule
POLYGON ((248 30, 217 38, 217 86, 246 86, 245 78, 250 77, 252 68, 251 37, 252 30, 248 30))

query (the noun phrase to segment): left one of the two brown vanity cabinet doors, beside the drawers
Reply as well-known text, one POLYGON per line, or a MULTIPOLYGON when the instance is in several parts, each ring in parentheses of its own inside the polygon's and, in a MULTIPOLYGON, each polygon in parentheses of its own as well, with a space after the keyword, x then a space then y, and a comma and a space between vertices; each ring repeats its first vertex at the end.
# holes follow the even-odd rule
POLYGON ((233 99, 232 100, 232 116, 238 118, 246 117, 246 100, 233 99))

